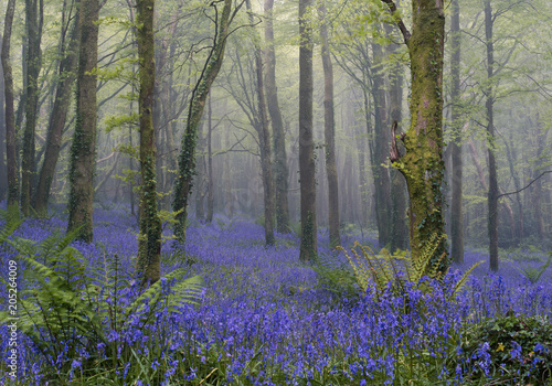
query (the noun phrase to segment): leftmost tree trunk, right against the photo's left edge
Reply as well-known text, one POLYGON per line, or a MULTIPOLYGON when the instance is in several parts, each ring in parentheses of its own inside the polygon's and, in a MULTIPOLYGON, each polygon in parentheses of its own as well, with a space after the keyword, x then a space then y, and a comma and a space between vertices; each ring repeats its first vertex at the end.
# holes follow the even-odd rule
MULTIPOLYGON (((6 97, 6 165, 8 172, 8 207, 19 208, 19 179, 18 160, 15 151, 15 112, 13 108, 13 75, 10 62, 11 29, 15 0, 9 0, 6 9, 6 19, 2 37, 2 69, 6 97)), ((1 106, 0 106, 1 108, 1 106)))

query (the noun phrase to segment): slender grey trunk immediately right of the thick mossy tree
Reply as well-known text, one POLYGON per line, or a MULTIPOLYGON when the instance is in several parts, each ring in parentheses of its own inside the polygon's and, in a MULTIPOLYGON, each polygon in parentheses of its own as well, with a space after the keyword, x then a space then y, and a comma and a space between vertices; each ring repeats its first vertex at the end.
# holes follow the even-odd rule
POLYGON ((450 25, 452 35, 452 56, 450 56, 450 77, 453 100, 453 140, 452 147, 452 189, 453 197, 450 203, 450 257, 454 262, 464 262, 464 213, 461 205, 463 196, 463 160, 461 160, 461 108, 460 108, 460 4, 459 0, 453 0, 453 17, 450 25))

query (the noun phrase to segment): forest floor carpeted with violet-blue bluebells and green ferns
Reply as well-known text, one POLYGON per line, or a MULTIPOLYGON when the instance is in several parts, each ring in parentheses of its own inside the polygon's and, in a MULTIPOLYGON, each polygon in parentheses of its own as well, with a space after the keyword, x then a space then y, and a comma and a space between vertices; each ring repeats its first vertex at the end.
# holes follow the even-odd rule
MULTIPOLYGON (((0 246, 0 311, 10 303, 8 261, 17 261, 20 299, 17 344, 9 323, 0 330, 2 385, 550 384, 552 267, 528 279, 546 259, 535 249, 503 254, 498 274, 488 271, 488 256, 468 249, 440 285, 360 293, 325 229, 320 264, 308 266, 298 261, 297 235, 277 235, 266 248, 262 226, 219 215, 212 224, 191 219, 185 247, 172 245, 167 225, 168 280, 137 304, 136 217, 97 208, 95 242, 73 243, 78 253, 63 244, 64 217, 25 219, 10 237, 19 254, 0 246), (21 250, 38 265, 19 259, 21 250), (179 287, 176 272, 194 278, 190 289, 199 275, 199 292, 179 287), (478 335, 489 322, 488 335, 478 335)), ((375 245, 342 238, 347 248, 355 240, 375 245)))

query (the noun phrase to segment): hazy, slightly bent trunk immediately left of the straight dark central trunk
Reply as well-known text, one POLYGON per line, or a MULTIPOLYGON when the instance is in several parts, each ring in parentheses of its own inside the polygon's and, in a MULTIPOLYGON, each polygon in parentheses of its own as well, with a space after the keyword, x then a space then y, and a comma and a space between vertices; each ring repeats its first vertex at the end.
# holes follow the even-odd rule
POLYGON ((279 233, 288 233, 289 227, 289 207, 287 200, 288 191, 288 170, 286 154, 286 137, 284 131, 284 121, 278 104, 278 90, 276 87, 276 53, 274 50, 274 29, 273 29, 273 7, 274 0, 265 0, 265 89, 266 106, 270 115, 273 136, 274 136, 274 182, 276 193, 276 229, 279 233))

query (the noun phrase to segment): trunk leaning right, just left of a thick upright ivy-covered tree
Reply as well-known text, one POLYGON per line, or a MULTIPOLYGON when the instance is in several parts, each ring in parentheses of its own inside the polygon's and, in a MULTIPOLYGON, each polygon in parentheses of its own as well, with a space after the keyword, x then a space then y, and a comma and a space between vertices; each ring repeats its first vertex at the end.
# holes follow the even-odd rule
POLYGON ((73 30, 70 36, 70 43, 62 46, 62 61, 59 71, 59 84, 55 93, 54 107, 50 116, 50 125, 46 138, 46 150, 44 162, 39 178, 36 195, 34 200, 34 211, 39 216, 47 214, 47 200, 50 197, 50 187, 55 173, 55 165, 60 158, 62 146, 63 129, 67 117, 67 110, 71 105, 71 92, 75 82, 75 69, 77 64, 78 50, 78 10, 73 21, 73 30))

